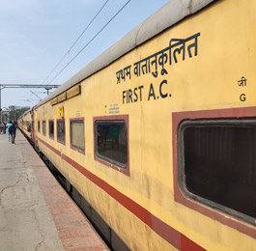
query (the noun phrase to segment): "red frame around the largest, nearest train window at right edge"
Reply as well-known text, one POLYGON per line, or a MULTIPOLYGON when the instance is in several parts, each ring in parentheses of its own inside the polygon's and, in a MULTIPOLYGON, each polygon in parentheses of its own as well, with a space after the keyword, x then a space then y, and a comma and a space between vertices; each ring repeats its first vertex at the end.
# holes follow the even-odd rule
MULTIPOLYGON (((256 229, 255 222, 252 224, 245 218, 238 215, 223 211, 221 208, 215 209, 202 202, 193 200, 188 196, 180 186, 179 176, 180 171, 178 162, 181 157, 178 148, 178 132, 179 126, 185 120, 229 120, 229 119, 254 119, 256 120, 256 107, 242 107, 242 108, 226 108, 217 110, 203 110, 203 111, 185 111, 172 113, 172 145, 173 145, 173 184, 174 184, 174 200, 176 203, 184 205, 186 208, 193 209, 204 215, 209 216, 213 220, 234 228, 245 235, 255 237, 256 229), (249 223, 249 224, 248 224, 249 223)), ((234 212, 237 212, 234 210, 234 212)), ((250 216, 248 216, 250 217, 250 216)))

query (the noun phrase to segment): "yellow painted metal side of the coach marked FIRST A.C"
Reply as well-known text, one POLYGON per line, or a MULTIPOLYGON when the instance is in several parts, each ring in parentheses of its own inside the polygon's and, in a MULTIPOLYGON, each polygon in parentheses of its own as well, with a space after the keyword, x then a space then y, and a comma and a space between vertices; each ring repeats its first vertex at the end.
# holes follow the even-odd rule
MULTIPOLYGON (((253 250, 255 238, 174 201, 172 113, 256 106, 255 11, 254 0, 222 0, 186 18, 84 80, 81 96, 67 92, 66 146, 39 136, 205 249, 253 250), (118 114, 129 116, 129 177, 94 159, 93 118, 118 114), (85 121, 85 154, 70 147, 76 117, 85 121)), ((39 117, 57 119, 57 108, 48 102, 39 117)), ((61 158, 54 161, 134 250, 173 249, 61 158)))

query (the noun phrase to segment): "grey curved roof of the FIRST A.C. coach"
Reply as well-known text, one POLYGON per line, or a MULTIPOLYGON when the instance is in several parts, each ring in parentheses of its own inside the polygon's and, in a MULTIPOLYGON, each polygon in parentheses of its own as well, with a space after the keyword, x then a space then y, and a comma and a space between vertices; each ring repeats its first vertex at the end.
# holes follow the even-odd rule
POLYGON ((215 0, 170 0, 155 14, 152 14, 144 22, 131 30, 119 42, 113 44, 84 69, 78 71, 67 82, 52 92, 52 94, 46 98, 43 98, 43 100, 40 101, 35 107, 39 107, 48 100, 57 97, 75 84, 110 65, 112 62, 119 59, 136 46, 142 44, 143 42, 147 42, 160 32, 184 19, 185 16, 200 11, 213 1, 215 0))

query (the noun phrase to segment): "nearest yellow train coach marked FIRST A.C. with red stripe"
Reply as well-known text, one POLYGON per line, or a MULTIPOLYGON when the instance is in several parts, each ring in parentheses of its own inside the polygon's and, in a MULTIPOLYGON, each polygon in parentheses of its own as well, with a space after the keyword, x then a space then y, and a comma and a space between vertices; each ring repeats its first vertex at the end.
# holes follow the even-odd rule
POLYGON ((255 13, 169 1, 33 108, 113 250, 256 250, 255 13))

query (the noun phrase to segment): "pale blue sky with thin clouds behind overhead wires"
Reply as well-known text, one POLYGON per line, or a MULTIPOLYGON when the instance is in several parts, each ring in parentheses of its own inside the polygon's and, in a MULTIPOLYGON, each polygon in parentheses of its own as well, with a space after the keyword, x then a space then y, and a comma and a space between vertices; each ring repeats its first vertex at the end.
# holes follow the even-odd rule
MULTIPOLYGON (((0 84, 61 85, 168 0, 130 0, 58 74, 127 2, 0 0, 0 84), (100 14, 71 48, 102 6, 100 14)), ((46 96, 44 89, 5 88, 1 91, 1 107, 3 110, 10 105, 32 107, 46 96)))

